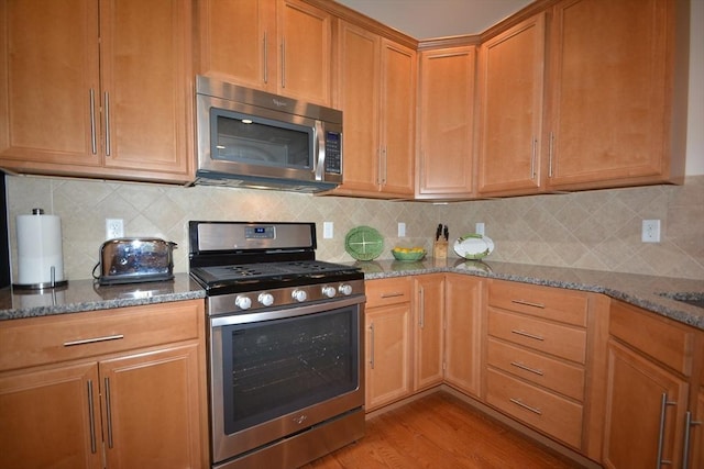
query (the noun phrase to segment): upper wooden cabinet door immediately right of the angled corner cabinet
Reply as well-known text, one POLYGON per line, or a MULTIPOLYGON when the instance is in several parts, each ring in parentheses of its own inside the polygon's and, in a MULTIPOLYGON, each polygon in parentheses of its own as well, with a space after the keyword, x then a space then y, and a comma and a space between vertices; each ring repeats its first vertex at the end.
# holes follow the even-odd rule
POLYGON ((479 192, 540 187, 544 13, 481 46, 479 192))

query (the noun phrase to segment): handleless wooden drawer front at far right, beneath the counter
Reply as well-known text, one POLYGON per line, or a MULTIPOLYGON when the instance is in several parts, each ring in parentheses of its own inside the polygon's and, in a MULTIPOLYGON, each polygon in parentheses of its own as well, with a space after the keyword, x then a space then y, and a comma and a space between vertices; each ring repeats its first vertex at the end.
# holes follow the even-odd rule
POLYGON ((613 301, 608 332, 673 370, 684 376, 692 375, 694 330, 672 324, 629 304, 613 301))

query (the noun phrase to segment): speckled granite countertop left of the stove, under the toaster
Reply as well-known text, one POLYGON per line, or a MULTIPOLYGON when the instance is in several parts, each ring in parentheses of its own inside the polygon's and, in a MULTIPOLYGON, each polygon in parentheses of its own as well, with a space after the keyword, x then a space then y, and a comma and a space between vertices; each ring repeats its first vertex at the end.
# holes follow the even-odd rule
POLYGON ((41 292, 1 289, 0 321, 200 298, 206 298, 206 292, 188 273, 176 273, 173 281, 110 287, 99 287, 92 280, 68 280, 65 288, 41 292))

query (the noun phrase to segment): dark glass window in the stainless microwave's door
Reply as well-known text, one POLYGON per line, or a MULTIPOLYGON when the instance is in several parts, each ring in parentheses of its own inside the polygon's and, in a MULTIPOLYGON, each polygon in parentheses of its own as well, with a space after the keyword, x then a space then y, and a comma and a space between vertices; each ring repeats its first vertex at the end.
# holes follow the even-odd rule
POLYGON ((312 168, 311 127, 211 109, 213 159, 250 165, 312 168))

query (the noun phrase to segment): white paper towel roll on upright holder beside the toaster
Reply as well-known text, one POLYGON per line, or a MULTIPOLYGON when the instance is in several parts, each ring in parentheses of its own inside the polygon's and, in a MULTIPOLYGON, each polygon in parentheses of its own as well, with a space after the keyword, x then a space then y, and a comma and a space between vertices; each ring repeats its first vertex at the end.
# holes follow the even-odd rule
POLYGON ((62 221, 34 210, 32 215, 18 215, 18 284, 43 286, 64 280, 62 221))

